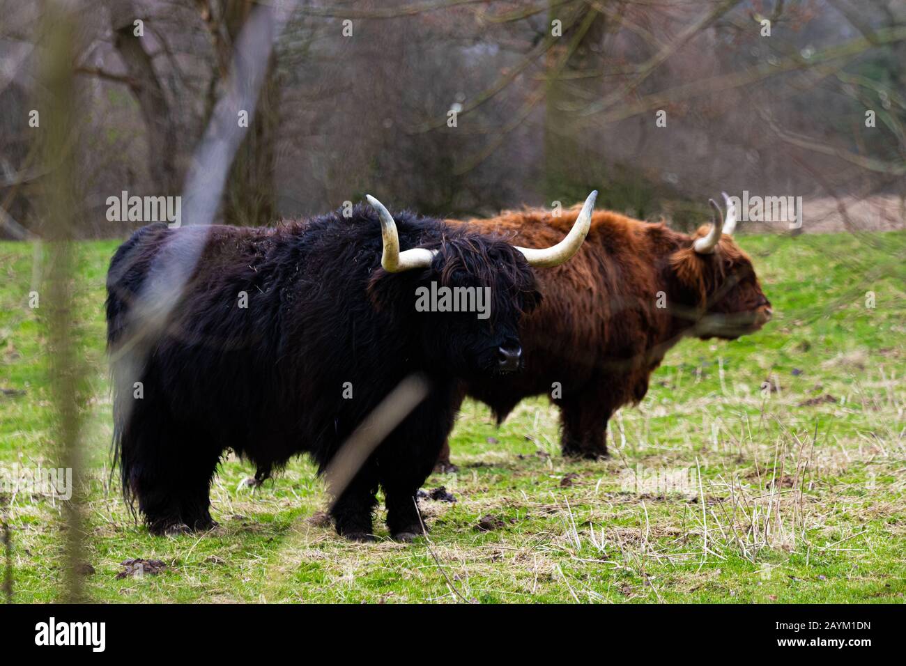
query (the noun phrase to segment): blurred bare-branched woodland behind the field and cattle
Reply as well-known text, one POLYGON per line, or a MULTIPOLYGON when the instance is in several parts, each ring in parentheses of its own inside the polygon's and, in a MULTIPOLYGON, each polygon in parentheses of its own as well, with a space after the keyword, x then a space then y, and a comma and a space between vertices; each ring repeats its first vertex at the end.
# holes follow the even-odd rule
MULTIPOLYGON (((74 4, 75 233, 124 236, 140 225, 109 222, 106 198, 182 190, 255 3, 74 4)), ((0 237, 43 236, 44 6, 0 0, 0 237)), ((219 218, 366 191, 470 217, 597 188, 599 208, 689 227, 747 189, 804 197, 805 231, 900 228, 904 68, 902 0, 300 0, 219 218)))

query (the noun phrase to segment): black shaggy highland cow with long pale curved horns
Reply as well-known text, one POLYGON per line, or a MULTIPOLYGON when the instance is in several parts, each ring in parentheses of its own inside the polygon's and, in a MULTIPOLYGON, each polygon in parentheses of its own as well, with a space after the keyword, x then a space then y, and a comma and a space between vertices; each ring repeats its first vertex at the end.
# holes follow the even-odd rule
POLYGON ((359 206, 352 217, 276 228, 150 225, 113 256, 114 456, 123 493, 130 506, 138 500, 151 532, 214 525, 208 491, 226 449, 255 463, 259 476, 303 452, 323 471, 371 410, 420 372, 427 397, 331 509, 342 536, 370 539, 381 486, 390 534, 420 533, 413 497, 452 428, 458 382, 518 369, 519 318, 540 298, 530 266, 575 253, 593 195, 569 235, 546 249, 409 213, 395 225, 370 200, 373 210, 359 206), (149 275, 160 259, 178 265, 193 243, 203 244, 198 264, 161 332, 149 336, 136 316, 149 275), (412 249, 400 252, 400 245, 412 249), (417 312, 416 289, 432 281, 490 287, 489 318, 417 312))

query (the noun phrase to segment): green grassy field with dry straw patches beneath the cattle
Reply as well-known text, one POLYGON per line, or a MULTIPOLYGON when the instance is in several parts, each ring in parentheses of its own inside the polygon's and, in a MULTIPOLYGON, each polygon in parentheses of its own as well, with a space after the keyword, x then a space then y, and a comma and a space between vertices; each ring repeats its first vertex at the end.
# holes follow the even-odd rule
MULTIPOLYGON (((346 543, 319 519, 304 459, 251 489, 227 459, 220 523, 152 537, 110 480, 103 277, 115 242, 79 246, 90 399, 85 583, 100 602, 886 602, 906 594, 906 235, 743 236, 775 319, 734 343, 686 340, 638 409, 612 420, 612 459, 564 460, 557 414, 526 401, 496 430, 467 403, 453 437, 458 501, 422 500, 410 545, 346 543), (875 306, 866 304, 872 292, 875 306), (769 389, 763 388, 768 382, 769 389), (132 558, 159 574, 124 575, 132 558)), ((42 253, 0 244, 0 478, 53 467, 42 253)), ((869 303, 870 304, 870 303, 869 303)), ((14 600, 59 597, 59 501, 3 491, 14 600)), ((383 516, 378 516, 379 521, 383 516)))

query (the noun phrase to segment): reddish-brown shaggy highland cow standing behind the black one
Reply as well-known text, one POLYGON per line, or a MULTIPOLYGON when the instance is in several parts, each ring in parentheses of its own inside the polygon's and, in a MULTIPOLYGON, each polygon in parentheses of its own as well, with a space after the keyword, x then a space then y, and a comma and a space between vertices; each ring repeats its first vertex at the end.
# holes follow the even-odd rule
MULTIPOLYGON (((520 246, 552 246, 580 208, 554 217, 544 209, 506 211, 469 222, 448 220, 520 246)), ((573 259, 538 271, 543 300, 521 324, 525 372, 469 382, 462 393, 486 402, 498 420, 531 395, 554 392, 561 409, 564 454, 606 455, 607 420, 648 391, 651 372, 683 335, 735 339, 769 319, 749 257, 728 236, 699 255, 689 236, 663 224, 594 213, 573 259), (662 295, 661 295, 662 294, 662 295), (661 305, 659 307, 659 296, 661 305)), ((448 447, 439 460, 448 465, 448 447)))

